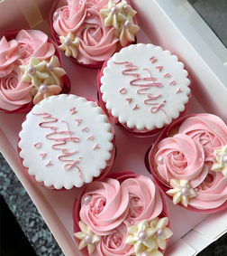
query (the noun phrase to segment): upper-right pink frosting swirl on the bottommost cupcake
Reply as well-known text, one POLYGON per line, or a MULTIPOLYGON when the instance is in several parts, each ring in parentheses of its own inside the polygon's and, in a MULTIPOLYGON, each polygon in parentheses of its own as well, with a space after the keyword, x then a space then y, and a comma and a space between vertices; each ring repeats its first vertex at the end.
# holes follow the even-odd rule
POLYGON ((126 220, 137 225, 143 220, 151 221, 162 212, 162 198, 158 187, 145 176, 129 178, 122 186, 129 192, 129 213, 126 220))

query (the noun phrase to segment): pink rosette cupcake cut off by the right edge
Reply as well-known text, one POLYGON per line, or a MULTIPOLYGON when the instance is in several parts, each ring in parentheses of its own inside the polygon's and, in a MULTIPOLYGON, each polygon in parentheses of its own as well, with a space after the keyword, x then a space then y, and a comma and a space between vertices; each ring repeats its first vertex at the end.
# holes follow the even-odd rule
POLYGON ((178 119, 150 150, 150 171, 174 204, 195 213, 227 207, 227 126, 212 114, 178 119))

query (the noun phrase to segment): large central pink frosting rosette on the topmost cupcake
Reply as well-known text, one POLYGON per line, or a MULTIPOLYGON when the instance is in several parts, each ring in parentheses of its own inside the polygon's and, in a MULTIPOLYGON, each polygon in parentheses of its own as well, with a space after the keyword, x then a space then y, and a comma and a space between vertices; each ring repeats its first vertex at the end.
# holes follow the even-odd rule
POLYGON ((116 50, 119 39, 114 35, 114 27, 104 26, 104 17, 92 8, 87 9, 89 15, 77 31, 79 39, 77 62, 104 62, 116 50))

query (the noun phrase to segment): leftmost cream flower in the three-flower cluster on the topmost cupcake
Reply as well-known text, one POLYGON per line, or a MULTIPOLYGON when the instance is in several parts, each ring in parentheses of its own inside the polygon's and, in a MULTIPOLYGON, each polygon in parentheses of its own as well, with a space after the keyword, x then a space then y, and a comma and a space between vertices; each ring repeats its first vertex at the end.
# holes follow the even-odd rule
POLYGON ((113 0, 109 0, 107 9, 101 9, 100 13, 104 16, 104 25, 112 25, 116 29, 126 20, 123 14, 123 1, 115 4, 113 0))

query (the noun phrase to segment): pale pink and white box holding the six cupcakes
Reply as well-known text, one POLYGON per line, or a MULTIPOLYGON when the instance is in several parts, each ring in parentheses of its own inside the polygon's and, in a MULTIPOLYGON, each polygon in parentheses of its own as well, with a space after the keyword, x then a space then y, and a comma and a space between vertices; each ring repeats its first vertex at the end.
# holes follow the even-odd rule
MULTIPOLYGON (((11 2, 4 1, 0 4, 1 13, 2 10, 9 8, 11 2)), ((38 5, 36 6, 39 6, 44 22, 41 22, 39 15, 33 15, 32 21, 29 20, 28 16, 25 16, 32 25, 40 23, 33 29, 41 29, 43 32, 49 33, 47 10, 50 10, 50 4, 45 2, 37 1, 38 5)), ((186 70, 196 85, 192 89, 193 96, 188 104, 188 114, 211 112, 227 122, 225 114, 227 89, 226 82, 224 82, 227 77, 226 67, 223 65, 224 60, 227 59, 226 49, 195 13, 191 5, 188 3, 177 5, 175 1, 168 1, 168 5, 166 5, 167 3, 164 2, 166 1, 159 1, 159 4, 148 0, 141 0, 140 3, 132 1, 133 8, 138 12, 138 23, 141 27, 141 32, 138 33, 138 43, 160 45, 163 49, 176 54, 179 60, 186 64, 186 70), (150 10, 153 12, 152 15, 150 15, 150 10), (148 26, 148 24, 150 25, 148 26), (200 33, 202 29, 203 34, 200 33), (216 49, 219 49, 222 54, 218 53, 216 49)), ((11 9, 12 14, 14 11, 11 9)), ((22 12, 18 9, 15 17, 24 28, 29 28, 22 12)), ((13 21, 3 20, 5 23, 2 24, 1 29, 18 28, 15 27, 17 24, 15 25, 13 21)), ((62 59, 70 81, 74 81, 71 93, 96 99, 95 78, 97 71, 86 70, 86 68, 70 62, 63 55, 62 59), (89 76, 86 75, 88 71, 89 76)), ((23 172, 23 167, 16 153, 18 133, 24 118, 25 114, 7 115, 0 113, 0 151, 31 195, 65 255, 80 255, 73 241, 73 220, 71 217, 73 201, 79 194, 79 189, 60 191, 57 200, 56 192, 38 187, 30 182, 23 172)), ((149 139, 132 137, 120 128, 115 129, 117 156, 111 173, 131 170, 139 175, 150 177, 144 165, 144 156, 156 137, 149 139)), ((197 214, 190 213, 177 205, 174 206, 169 200, 168 205, 171 230, 174 235, 168 242, 165 255, 195 255, 196 252, 202 251, 204 247, 227 231, 227 226, 224 226, 224 220, 227 216, 224 212, 210 215, 197 214)))

